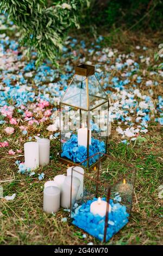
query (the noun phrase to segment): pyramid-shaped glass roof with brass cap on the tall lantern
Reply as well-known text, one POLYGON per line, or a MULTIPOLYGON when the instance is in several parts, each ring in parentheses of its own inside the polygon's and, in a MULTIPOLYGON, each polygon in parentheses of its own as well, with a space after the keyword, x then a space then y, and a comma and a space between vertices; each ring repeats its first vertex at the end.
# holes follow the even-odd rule
POLYGON ((80 64, 60 103, 86 111, 108 102, 108 96, 95 75, 95 66, 80 64))

